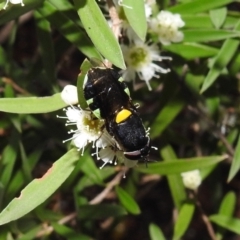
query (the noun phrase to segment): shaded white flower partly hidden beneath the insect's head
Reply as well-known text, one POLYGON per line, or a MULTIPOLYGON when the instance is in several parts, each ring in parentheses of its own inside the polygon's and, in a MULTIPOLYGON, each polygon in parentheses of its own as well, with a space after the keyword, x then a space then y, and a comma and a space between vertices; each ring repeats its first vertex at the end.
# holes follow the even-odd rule
POLYGON ((106 148, 102 148, 99 151, 99 158, 98 159, 102 159, 102 161, 104 162, 103 165, 100 167, 100 169, 102 169, 107 163, 114 163, 115 165, 117 164, 117 159, 121 162, 124 163, 124 165, 126 167, 134 167, 138 161, 133 161, 133 160, 129 160, 124 156, 123 151, 116 149, 116 147, 114 148, 113 146, 108 146, 106 148))

